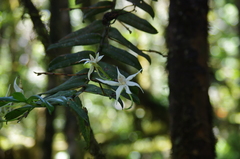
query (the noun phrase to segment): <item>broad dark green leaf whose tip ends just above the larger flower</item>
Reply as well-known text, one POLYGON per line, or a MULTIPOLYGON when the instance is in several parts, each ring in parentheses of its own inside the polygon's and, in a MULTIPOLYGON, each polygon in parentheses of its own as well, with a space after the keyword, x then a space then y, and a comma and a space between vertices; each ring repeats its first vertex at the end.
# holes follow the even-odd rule
POLYGON ((116 48, 112 45, 103 47, 102 54, 109 56, 117 61, 123 62, 127 65, 133 66, 138 70, 142 69, 142 66, 140 65, 138 59, 135 56, 125 50, 116 48))

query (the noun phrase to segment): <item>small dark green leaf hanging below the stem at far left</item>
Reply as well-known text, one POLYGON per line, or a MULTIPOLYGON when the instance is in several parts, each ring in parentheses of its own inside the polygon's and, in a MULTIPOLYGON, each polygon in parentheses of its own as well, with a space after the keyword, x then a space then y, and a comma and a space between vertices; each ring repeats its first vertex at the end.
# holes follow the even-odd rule
POLYGON ((31 111, 33 108, 34 108, 33 106, 25 106, 25 107, 14 109, 5 115, 5 119, 7 121, 14 120, 20 117, 21 115, 24 115, 25 112, 31 111))

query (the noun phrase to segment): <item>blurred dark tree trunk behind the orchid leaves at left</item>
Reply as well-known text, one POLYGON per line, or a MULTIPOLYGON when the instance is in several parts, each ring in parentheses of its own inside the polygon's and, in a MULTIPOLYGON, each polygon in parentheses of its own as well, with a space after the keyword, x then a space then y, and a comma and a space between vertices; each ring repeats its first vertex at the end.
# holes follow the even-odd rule
MULTIPOLYGON (((61 8, 68 8, 68 1, 66 0, 51 0, 50 1, 50 41, 51 43, 58 42, 59 39, 66 36, 71 32, 70 17, 69 12, 61 12, 61 8)), ((71 53, 71 48, 54 49, 47 51, 47 64, 61 54, 71 53)), ((71 68, 69 70, 64 70, 65 73, 71 73, 71 68)), ((50 76, 48 78, 47 89, 56 87, 61 82, 59 77, 50 76)), ((55 119, 55 111, 53 114, 49 114, 46 110, 46 127, 45 127, 45 138, 42 143, 43 156, 42 159, 52 158, 52 143, 53 136, 55 134, 53 120, 55 119)))

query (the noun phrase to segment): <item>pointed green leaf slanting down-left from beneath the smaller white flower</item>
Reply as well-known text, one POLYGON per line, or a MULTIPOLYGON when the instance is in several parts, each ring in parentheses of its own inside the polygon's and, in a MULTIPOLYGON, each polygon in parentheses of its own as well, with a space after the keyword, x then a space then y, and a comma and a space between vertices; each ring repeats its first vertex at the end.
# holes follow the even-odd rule
POLYGON ((59 91, 65 91, 65 90, 69 90, 69 89, 77 89, 79 87, 82 87, 85 85, 86 83, 86 79, 87 79, 87 73, 88 73, 89 69, 83 69, 80 72, 77 72, 77 76, 72 76, 71 78, 69 78, 67 81, 65 81, 64 83, 60 84, 57 87, 54 87, 53 89, 50 89, 42 94, 54 94, 57 93, 59 91))

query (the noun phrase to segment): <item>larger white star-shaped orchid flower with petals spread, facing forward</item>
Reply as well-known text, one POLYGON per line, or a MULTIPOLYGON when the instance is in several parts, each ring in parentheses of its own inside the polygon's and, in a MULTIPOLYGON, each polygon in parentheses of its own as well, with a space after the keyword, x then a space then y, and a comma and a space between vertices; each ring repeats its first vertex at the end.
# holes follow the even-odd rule
MULTIPOLYGON (((137 74, 139 74, 142 70, 138 71, 137 73, 133 74, 133 75, 130 75, 128 76, 127 78, 122 75, 120 73, 120 71, 118 70, 117 68, 117 72, 118 72, 118 81, 109 81, 109 80, 102 80, 102 79, 99 79, 97 78, 98 81, 104 83, 104 84, 107 84, 107 85, 110 85, 110 86, 118 86, 117 90, 116 90, 116 102, 115 102, 115 106, 117 105, 118 103, 118 99, 122 93, 122 91, 125 89, 126 93, 129 94, 131 100, 132 100, 132 92, 130 91, 129 89, 129 86, 137 86, 138 88, 141 89, 141 91, 143 92, 142 88, 140 87, 139 84, 137 84, 136 82, 132 82, 131 80, 137 76, 137 74)), ((133 100, 132 100, 132 104, 133 104, 133 100)), ((132 105, 131 105, 132 106, 132 105)), ((131 107, 130 106, 130 107, 131 107)))

